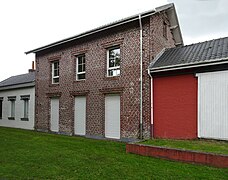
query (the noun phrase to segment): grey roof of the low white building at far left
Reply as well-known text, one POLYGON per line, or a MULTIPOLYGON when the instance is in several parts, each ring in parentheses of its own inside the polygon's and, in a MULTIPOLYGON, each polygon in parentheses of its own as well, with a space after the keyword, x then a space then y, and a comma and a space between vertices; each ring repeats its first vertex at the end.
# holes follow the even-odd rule
POLYGON ((0 82, 0 88, 19 85, 19 84, 27 84, 35 81, 35 72, 30 72, 27 74, 21 74, 17 76, 11 76, 0 82))

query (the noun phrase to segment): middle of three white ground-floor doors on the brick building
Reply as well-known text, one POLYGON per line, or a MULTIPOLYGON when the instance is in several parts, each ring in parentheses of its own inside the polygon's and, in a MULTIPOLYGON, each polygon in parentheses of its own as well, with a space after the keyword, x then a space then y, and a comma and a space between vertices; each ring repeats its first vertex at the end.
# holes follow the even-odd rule
POLYGON ((86 134, 86 97, 75 97, 74 104, 74 133, 77 135, 86 134))

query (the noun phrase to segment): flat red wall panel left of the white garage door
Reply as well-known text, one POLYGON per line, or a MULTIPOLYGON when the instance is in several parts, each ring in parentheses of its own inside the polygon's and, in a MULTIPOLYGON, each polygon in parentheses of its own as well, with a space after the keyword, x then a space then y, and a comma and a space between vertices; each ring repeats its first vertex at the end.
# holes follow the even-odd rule
POLYGON ((153 87, 154 137, 197 138, 197 78, 155 77, 153 87))

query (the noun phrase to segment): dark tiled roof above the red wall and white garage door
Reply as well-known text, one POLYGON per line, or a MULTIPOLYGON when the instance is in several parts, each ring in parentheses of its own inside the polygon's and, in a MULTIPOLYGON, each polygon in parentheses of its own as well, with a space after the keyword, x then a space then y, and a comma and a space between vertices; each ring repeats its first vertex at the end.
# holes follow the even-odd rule
POLYGON ((161 72, 228 63, 228 37, 163 50, 149 69, 161 72))

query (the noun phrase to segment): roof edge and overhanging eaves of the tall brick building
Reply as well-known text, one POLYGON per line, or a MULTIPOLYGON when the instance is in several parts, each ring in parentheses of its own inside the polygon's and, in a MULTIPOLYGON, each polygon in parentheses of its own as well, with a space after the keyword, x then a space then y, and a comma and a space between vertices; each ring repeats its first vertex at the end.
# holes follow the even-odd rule
MULTIPOLYGON (((179 27, 179 22, 177 19, 176 10, 175 10, 173 3, 157 7, 154 10, 143 12, 140 14, 140 16, 141 16, 141 18, 145 18, 145 17, 148 17, 150 15, 159 13, 161 11, 166 11, 168 14, 168 18, 170 19, 170 25, 171 25, 171 27, 173 27, 171 30, 172 30, 173 35, 174 35, 175 43, 177 45, 183 45, 183 39, 182 39, 180 27, 179 27)), ((86 31, 86 32, 78 34, 76 36, 72 36, 70 38, 66 38, 66 39, 48 44, 48 45, 43 46, 43 47, 39 47, 39 48, 30 50, 30 51, 27 51, 27 52, 25 52, 25 54, 37 53, 37 52, 43 51, 45 49, 52 48, 52 47, 55 47, 55 46, 58 46, 60 44, 64 44, 67 42, 71 42, 71 41, 74 41, 76 39, 80 39, 80 38, 83 38, 83 37, 86 37, 86 36, 89 36, 89 35, 92 35, 92 34, 107 30, 107 29, 111 29, 113 27, 117 27, 117 26, 129 23, 129 22, 136 21, 136 20, 139 20, 139 14, 121 19, 119 21, 115 21, 115 22, 110 23, 110 24, 106 24, 104 26, 100 26, 100 27, 92 29, 90 31, 86 31)))

